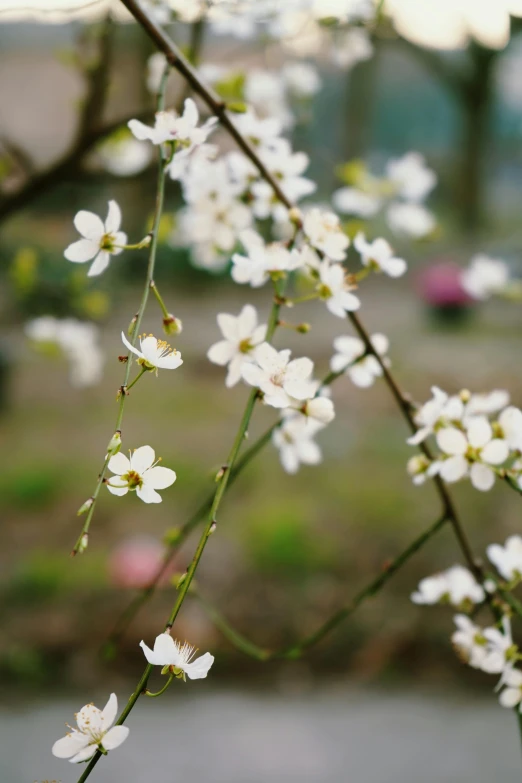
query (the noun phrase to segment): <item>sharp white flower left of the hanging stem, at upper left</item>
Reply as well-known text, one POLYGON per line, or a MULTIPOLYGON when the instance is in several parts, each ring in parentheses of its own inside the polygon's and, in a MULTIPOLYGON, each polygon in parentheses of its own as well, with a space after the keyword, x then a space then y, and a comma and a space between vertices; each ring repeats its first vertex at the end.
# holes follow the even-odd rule
POLYGON ((64 256, 75 264, 91 261, 87 276, 95 277, 109 266, 111 256, 117 256, 127 244, 127 235, 120 231, 121 211, 115 201, 109 201, 105 223, 95 215, 82 209, 74 218, 74 225, 83 239, 65 248, 64 256))

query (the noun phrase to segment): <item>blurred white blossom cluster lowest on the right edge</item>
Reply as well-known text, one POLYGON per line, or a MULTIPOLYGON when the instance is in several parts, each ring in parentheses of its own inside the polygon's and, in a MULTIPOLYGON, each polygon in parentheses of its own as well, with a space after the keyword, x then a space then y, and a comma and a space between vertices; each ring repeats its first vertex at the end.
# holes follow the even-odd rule
POLYGON ((522 581, 522 537, 510 536, 503 546, 491 544, 487 556, 499 577, 488 576, 479 584, 467 568, 455 565, 422 579, 411 599, 416 604, 451 604, 459 610, 455 616, 456 631, 451 637, 458 656, 474 669, 500 675, 496 688, 500 691, 500 704, 508 708, 518 706, 522 711, 522 671, 516 668, 522 654, 513 641, 506 605, 502 604, 506 608, 492 626, 482 627, 469 616, 475 615, 488 596, 491 598, 497 591, 502 595, 522 581))

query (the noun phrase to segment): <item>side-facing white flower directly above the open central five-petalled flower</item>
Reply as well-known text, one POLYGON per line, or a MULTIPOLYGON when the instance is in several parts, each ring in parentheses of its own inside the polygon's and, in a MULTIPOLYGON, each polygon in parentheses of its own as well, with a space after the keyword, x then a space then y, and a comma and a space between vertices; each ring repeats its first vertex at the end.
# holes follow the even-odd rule
POLYGON ((303 266, 304 258, 296 250, 288 250, 280 242, 265 245, 255 231, 246 229, 240 234, 248 256, 235 253, 232 256, 232 279, 236 283, 250 283, 252 288, 259 288, 273 277, 286 277, 303 266))

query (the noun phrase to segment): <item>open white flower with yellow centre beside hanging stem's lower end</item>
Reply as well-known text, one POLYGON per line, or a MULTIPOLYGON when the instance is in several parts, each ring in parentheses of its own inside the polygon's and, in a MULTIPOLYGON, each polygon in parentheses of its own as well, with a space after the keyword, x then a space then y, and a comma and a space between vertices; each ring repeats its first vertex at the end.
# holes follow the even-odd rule
POLYGON ((158 467, 157 462, 150 446, 135 449, 130 459, 121 451, 114 454, 107 467, 115 475, 106 482, 107 489, 119 496, 135 489, 144 503, 161 503, 161 495, 156 490, 167 489, 174 484, 176 474, 170 468, 158 467))

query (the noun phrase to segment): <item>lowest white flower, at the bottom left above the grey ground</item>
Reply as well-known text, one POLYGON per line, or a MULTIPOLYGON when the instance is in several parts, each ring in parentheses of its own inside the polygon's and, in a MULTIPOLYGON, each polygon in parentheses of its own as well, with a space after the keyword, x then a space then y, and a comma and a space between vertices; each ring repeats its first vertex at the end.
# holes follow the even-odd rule
POLYGON ((86 704, 76 713, 78 728, 71 728, 69 734, 54 743, 53 756, 77 764, 89 761, 97 750, 114 750, 129 736, 126 726, 113 726, 117 714, 118 700, 114 693, 111 693, 103 710, 94 704, 86 704))

